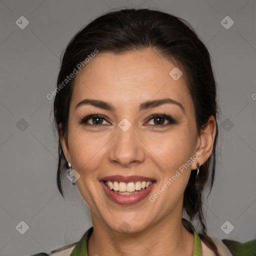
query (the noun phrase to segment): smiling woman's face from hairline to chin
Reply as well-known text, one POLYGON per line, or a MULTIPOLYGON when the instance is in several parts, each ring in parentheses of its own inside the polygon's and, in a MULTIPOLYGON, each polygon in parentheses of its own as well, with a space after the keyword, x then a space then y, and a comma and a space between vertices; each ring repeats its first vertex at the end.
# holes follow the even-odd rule
POLYGON ((101 225, 136 232, 182 214, 201 142, 174 67, 150 49, 99 52, 76 76, 62 147, 101 225))

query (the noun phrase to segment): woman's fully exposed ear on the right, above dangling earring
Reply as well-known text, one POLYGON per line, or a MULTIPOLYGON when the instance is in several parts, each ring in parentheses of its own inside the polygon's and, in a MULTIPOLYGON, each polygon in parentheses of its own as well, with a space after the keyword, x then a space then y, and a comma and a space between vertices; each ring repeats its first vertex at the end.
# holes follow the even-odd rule
POLYGON ((201 130, 201 134, 197 138, 196 143, 196 151, 197 157, 196 161, 193 161, 191 165, 191 169, 196 169, 197 161, 200 164, 203 164, 211 155, 214 138, 216 135, 216 120, 213 115, 211 115, 208 119, 207 124, 205 125, 204 129, 201 130))

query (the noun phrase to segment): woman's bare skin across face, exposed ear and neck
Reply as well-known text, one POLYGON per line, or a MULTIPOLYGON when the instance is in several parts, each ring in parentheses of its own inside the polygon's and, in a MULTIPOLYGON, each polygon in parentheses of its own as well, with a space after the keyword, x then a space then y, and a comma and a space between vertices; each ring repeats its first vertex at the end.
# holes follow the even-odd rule
POLYGON ((192 255, 193 234, 181 224, 183 193, 196 162, 203 164, 212 152, 216 124, 210 116, 198 135, 185 80, 169 75, 174 67, 152 49, 121 55, 99 52, 75 78, 68 134, 60 137, 66 160, 80 175, 76 185, 91 209, 89 256, 192 255), (142 102, 166 97, 180 102, 184 111, 170 103, 139 111, 142 102), (115 110, 90 104, 75 109, 84 98, 107 101, 115 110), (89 114, 107 120, 94 126, 79 124, 89 114), (149 120, 152 114, 171 116, 177 123, 161 119, 163 124, 153 127, 157 118, 149 120), (131 124, 125 132, 118 127, 123 118, 131 124), (116 204, 99 183, 106 175, 152 177, 156 185, 150 196, 198 151, 200 156, 154 202, 146 197, 133 205, 116 204))

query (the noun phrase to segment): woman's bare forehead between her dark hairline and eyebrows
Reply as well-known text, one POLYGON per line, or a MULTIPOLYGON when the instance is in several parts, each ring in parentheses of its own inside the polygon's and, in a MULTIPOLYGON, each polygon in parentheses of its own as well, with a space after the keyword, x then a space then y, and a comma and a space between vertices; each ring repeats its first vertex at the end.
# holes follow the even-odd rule
POLYGON ((173 68, 172 62, 150 49, 123 54, 99 52, 76 75, 71 104, 86 97, 123 107, 130 101, 135 106, 170 97, 191 108, 184 77, 174 80, 169 74, 173 68))

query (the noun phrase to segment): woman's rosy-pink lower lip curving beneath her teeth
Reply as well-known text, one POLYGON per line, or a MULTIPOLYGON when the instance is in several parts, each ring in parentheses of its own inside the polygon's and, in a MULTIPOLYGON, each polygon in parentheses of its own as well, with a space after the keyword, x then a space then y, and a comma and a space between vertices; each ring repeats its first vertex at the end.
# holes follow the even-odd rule
POLYGON ((103 180, 100 180, 99 182, 102 185, 108 198, 110 198, 115 203, 123 205, 130 205, 142 201, 150 193, 156 183, 153 181, 152 184, 146 189, 137 191, 137 193, 134 194, 117 194, 112 189, 109 189, 103 180))

